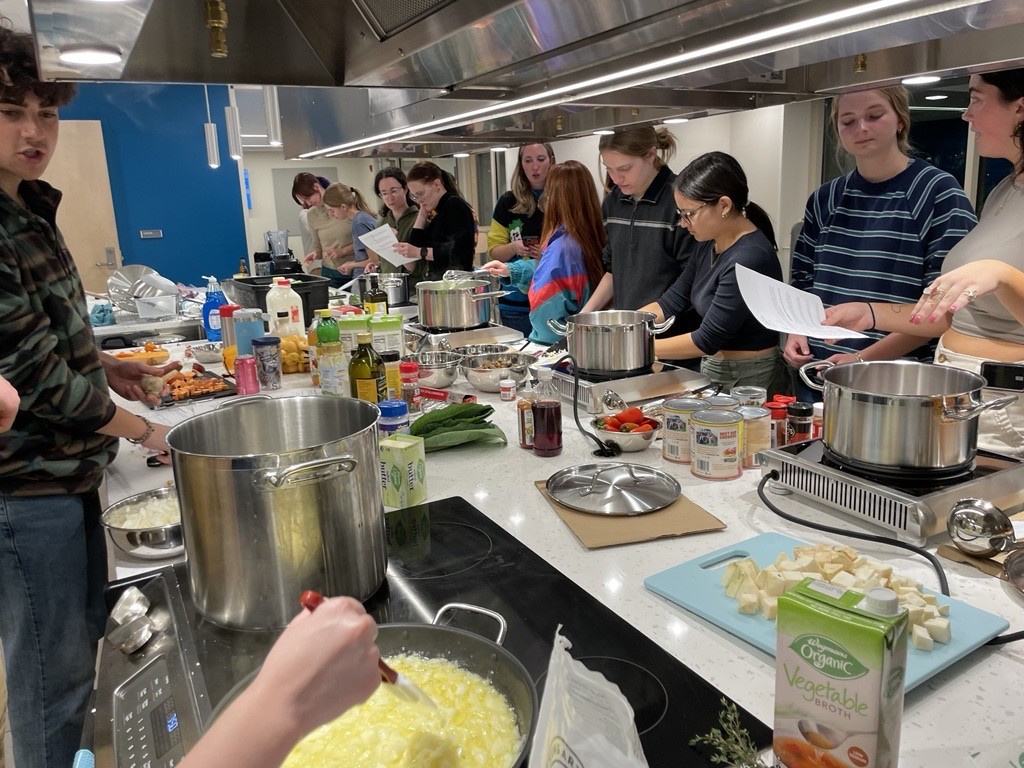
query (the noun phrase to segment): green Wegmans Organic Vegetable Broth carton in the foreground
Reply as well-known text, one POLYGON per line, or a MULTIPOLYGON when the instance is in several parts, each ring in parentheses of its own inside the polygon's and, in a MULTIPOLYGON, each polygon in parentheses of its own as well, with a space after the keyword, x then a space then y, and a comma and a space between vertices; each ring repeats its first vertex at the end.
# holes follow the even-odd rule
POLYGON ((896 594, 805 579, 778 598, 777 621, 776 768, 895 768, 907 646, 896 594))

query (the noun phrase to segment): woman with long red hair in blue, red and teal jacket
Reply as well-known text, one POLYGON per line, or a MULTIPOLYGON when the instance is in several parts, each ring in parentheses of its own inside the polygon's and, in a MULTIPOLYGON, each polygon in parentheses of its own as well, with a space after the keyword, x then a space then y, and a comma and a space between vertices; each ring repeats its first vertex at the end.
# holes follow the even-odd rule
POLYGON ((495 260, 483 268, 528 295, 530 341, 554 344, 561 337, 548 328, 548 321, 577 314, 601 282, 606 237, 594 177, 586 166, 569 160, 553 166, 547 176, 540 258, 495 260))

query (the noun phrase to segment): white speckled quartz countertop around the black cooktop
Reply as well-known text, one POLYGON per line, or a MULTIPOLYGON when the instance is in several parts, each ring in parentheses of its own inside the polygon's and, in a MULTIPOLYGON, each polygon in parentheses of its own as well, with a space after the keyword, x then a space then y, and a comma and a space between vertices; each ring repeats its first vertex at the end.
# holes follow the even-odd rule
MULTIPOLYGON (((215 369, 214 369, 215 370, 215 369)), ((312 393, 307 375, 285 377, 280 395, 312 393)), ((456 389, 470 391, 460 379, 456 389)), ((777 531, 810 543, 843 543, 874 559, 892 564, 926 587, 935 588, 935 574, 923 559, 904 556, 901 550, 829 538, 788 523, 766 509, 757 496, 759 471, 748 471, 729 481, 693 477, 688 466, 662 458, 660 442, 624 459, 666 470, 679 479, 684 494, 727 524, 722 531, 664 539, 637 545, 589 551, 555 515, 534 486, 535 480, 592 460, 593 443, 572 424, 571 410, 563 409, 564 450, 558 457, 542 459, 518 447, 515 408, 498 395, 476 393, 481 402, 494 404, 493 421, 509 436, 506 447, 464 446, 428 455, 429 500, 461 496, 528 546, 554 567, 572 579, 626 621, 644 632, 681 662, 734 698, 766 723, 772 722, 775 683, 773 659, 744 641, 688 613, 644 589, 643 580, 665 568, 709 551, 766 531, 777 531)), ((177 423, 201 410, 183 407, 147 413, 150 418, 177 423)), ((133 404, 133 410, 141 407, 133 404)), ((585 421, 585 417, 581 415, 585 421)), ((586 421, 585 421, 586 423, 586 421)), ((169 468, 148 469, 142 451, 122 441, 121 454, 111 468, 106 493, 116 501, 156 487, 171 479, 169 468)), ((829 524, 864 530, 850 518, 826 515, 801 504, 794 497, 779 497, 779 506, 791 513, 829 524)), ((933 542, 934 546, 935 542, 933 542)), ((160 563, 163 564, 163 563, 160 563)), ((1006 617, 1011 631, 1024 629, 1024 599, 1006 583, 968 566, 943 561, 952 595, 979 608, 1006 617)), ((124 577, 154 567, 141 561, 118 562, 124 577)), ((571 628, 567 628, 571 631, 571 628)), ((955 627, 953 628, 955 632, 955 627)), ((978 766, 972 759, 979 749, 992 749, 1008 740, 1005 760, 984 765, 1017 765, 1024 751, 1024 641, 999 648, 982 648, 939 673, 907 694, 900 750, 902 768, 928 766, 978 766)), ((1004 752, 998 754, 1001 756, 1004 752)))

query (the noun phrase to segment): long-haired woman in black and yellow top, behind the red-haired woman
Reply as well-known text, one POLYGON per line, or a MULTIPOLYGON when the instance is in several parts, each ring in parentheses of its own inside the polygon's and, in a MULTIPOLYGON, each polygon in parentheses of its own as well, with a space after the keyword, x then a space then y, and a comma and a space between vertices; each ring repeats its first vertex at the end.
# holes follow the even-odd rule
MULTIPOLYGON (((541 250, 544 227, 544 201, 548 169, 555 162, 551 144, 537 143, 519 147, 512 188, 498 199, 487 230, 487 255, 502 262, 536 259, 541 250)), ((528 281, 527 281, 528 284, 528 281)), ((528 297, 512 287, 507 296, 498 300, 502 325, 529 335, 530 304, 528 297)))

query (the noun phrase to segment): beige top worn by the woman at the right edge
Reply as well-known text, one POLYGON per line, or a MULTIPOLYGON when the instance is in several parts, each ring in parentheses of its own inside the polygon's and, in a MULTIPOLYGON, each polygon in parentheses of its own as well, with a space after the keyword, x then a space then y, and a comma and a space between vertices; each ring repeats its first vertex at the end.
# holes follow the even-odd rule
MULTIPOLYGON (((1024 270, 1024 189, 1014 186, 1013 176, 992 189, 978 226, 946 254, 942 272, 981 259, 998 259, 1024 270)), ((952 329, 968 336, 1024 344, 1024 326, 995 296, 981 296, 954 312, 952 329)))

